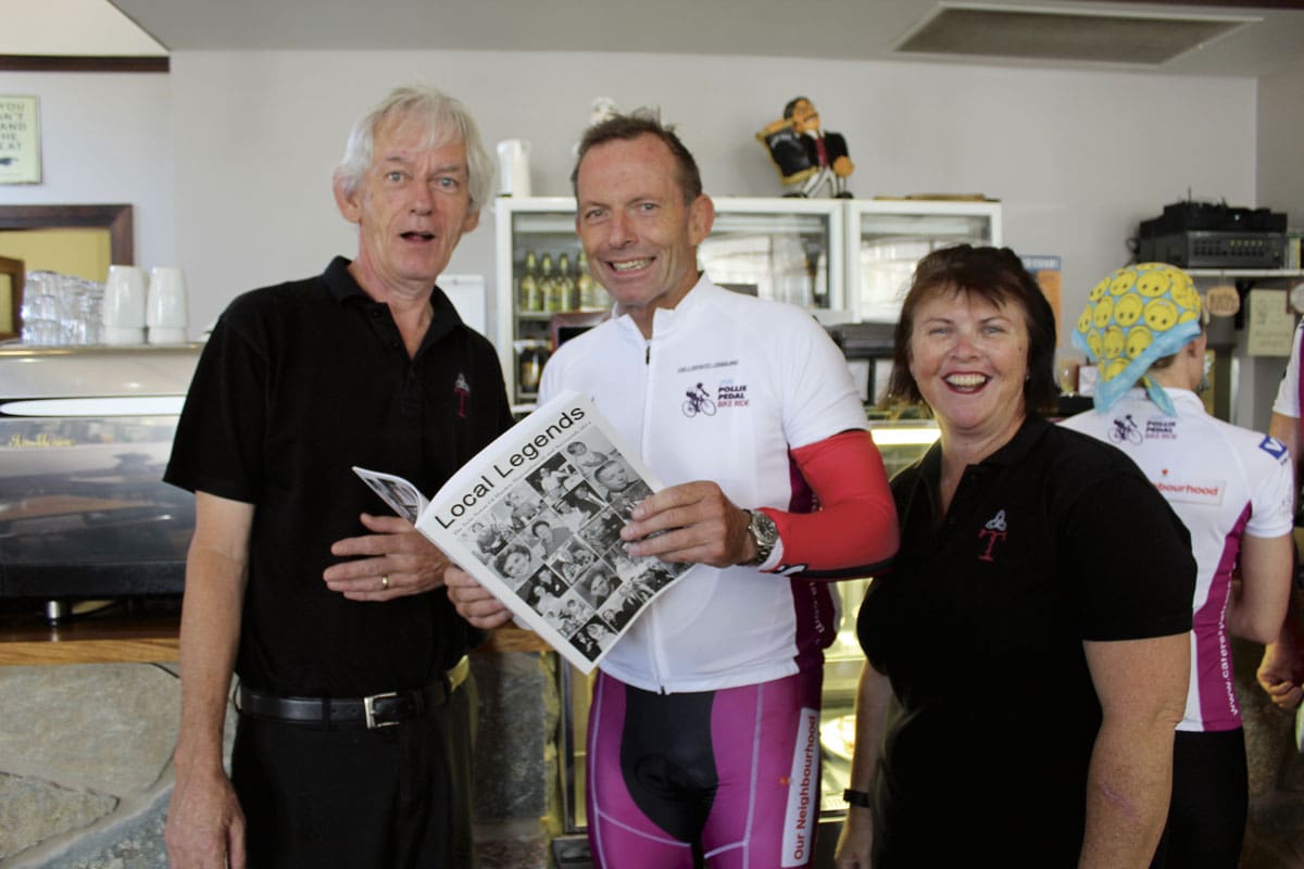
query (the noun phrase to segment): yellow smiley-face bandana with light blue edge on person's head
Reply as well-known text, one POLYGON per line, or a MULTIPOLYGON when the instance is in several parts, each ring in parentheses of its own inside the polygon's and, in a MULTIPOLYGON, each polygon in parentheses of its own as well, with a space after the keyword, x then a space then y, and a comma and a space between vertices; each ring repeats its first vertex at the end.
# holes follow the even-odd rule
POLYGON ((1172 399, 1145 373, 1200 335, 1200 292, 1176 266, 1125 266, 1097 284, 1073 331, 1073 347, 1099 369, 1097 412, 1107 413, 1140 380, 1161 410, 1176 416, 1172 399))

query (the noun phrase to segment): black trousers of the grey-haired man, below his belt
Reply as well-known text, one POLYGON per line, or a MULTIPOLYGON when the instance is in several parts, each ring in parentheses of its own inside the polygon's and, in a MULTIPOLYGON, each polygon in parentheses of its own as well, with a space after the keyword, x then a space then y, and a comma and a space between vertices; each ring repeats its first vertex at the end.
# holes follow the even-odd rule
POLYGON ((473 680, 424 718, 321 730, 240 715, 250 869, 469 869, 473 680))

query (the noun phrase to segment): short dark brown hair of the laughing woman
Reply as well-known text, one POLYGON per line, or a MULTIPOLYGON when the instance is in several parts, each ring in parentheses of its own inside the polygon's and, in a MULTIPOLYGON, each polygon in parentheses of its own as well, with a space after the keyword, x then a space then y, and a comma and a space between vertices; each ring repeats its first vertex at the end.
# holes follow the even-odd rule
POLYGON ((887 397, 919 403, 923 395, 910 374, 910 335, 914 311, 940 293, 973 293, 998 307, 1015 305, 1028 321, 1028 380, 1024 401, 1029 410, 1052 412, 1059 397, 1055 379, 1055 311, 1042 288, 1009 248, 956 245, 935 250, 914 268, 914 280, 901 305, 887 397))

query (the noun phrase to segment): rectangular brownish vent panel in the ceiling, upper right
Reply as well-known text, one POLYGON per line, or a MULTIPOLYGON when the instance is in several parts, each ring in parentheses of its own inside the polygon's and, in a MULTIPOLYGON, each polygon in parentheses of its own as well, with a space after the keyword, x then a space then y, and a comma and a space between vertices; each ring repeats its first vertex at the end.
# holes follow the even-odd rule
POLYGON ((941 5, 896 51, 1159 66, 1258 18, 1046 7, 941 5))

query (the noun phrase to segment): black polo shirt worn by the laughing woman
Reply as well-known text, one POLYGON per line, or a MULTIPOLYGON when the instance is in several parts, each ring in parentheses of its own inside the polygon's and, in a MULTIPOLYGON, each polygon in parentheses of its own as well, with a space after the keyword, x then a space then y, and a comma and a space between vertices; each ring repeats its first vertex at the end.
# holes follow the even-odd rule
POLYGON ((892 481, 901 548, 859 614, 896 696, 875 846, 888 869, 1074 866, 1101 723, 1082 642, 1189 631, 1189 535, 1120 451, 1041 418, 945 517, 940 463, 892 481))

